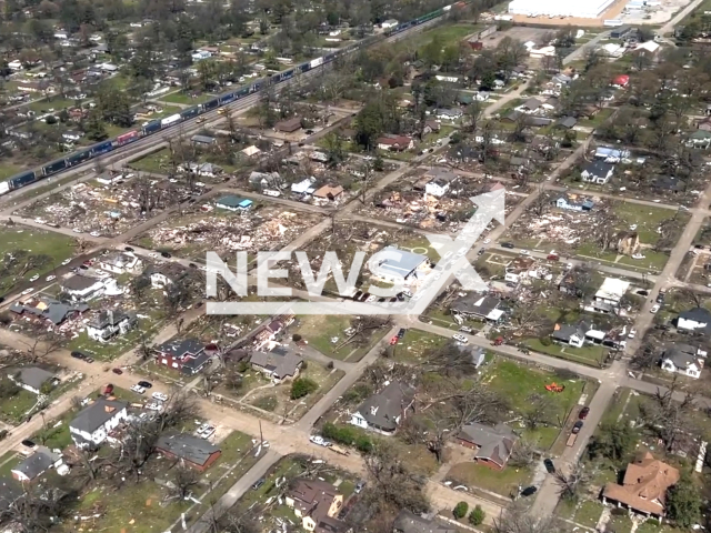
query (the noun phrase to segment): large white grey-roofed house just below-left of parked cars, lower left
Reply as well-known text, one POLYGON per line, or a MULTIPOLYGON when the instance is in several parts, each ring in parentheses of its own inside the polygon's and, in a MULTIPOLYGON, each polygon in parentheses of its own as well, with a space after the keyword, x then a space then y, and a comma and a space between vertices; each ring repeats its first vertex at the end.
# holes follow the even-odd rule
POLYGON ((121 422, 129 418, 127 402, 98 399, 82 409, 69 424, 74 444, 80 447, 101 444, 121 422))

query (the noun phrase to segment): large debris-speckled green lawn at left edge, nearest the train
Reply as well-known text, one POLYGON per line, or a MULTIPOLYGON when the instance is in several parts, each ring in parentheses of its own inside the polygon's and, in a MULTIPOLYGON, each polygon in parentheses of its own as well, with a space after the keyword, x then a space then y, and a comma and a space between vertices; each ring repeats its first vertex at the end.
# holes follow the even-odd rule
POLYGON ((4 225, 0 231, 0 290, 9 290, 29 260, 37 266, 24 273, 24 279, 33 274, 40 276, 74 254, 74 239, 50 231, 28 228, 20 224, 4 225), (11 253, 14 261, 8 262, 11 253))

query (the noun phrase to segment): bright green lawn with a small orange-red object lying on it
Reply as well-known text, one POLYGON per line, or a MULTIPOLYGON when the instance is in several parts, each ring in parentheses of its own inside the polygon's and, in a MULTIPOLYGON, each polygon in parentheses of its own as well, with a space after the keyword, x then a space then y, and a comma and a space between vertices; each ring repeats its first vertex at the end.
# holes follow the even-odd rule
POLYGON ((497 391, 514 413, 522 414, 531 409, 532 394, 548 399, 550 402, 548 426, 523 431, 531 441, 538 442, 538 446, 542 450, 553 445, 560 433, 558 421, 565 420, 578 404, 587 385, 584 380, 561 380, 554 374, 525 368, 504 359, 495 359, 493 364, 489 365, 482 382, 497 391), (547 391, 545 385, 552 382, 564 385, 564 391, 560 393, 547 391))

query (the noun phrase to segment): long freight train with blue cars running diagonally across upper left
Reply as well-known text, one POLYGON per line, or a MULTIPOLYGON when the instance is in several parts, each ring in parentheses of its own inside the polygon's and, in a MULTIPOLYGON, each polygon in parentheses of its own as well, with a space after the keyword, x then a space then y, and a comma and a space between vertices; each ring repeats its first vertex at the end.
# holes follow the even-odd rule
MULTIPOLYGON (((397 24, 392 28, 389 28, 388 30, 384 31, 384 36, 391 37, 394 36, 397 33, 401 33, 403 31, 409 30, 410 28, 423 24, 424 22, 429 22, 430 20, 437 19, 439 17, 442 17, 443 14, 445 14, 448 11, 450 11, 452 8, 462 8, 464 7, 467 3, 469 3, 469 1, 461 1, 461 2, 457 2, 453 3, 451 6, 445 6, 441 9, 438 9, 437 11, 432 11, 431 13, 427 13, 423 14, 422 17, 419 17, 414 20, 408 21, 408 22, 402 22, 400 24, 397 24)), ((312 61, 306 62, 303 64, 300 64, 298 67, 293 67, 289 70, 279 72, 277 74, 273 74, 270 78, 263 78, 261 80, 258 80, 253 83, 250 83, 249 86, 242 86, 241 88, 239 88, 237 91, 232 90, 231 92, 227 92, 224 94, 220 94, 219 97, 213 98, 212 100, 209 100, 204 103, 201 103, 199 105, 194 105, 192 108, 186 109, 183 111, 181 111, 180 113, 177 114, 172 114, 170 117, 167 117, 162 120, 153 120, 151 122, 148 122, 146 124, 143 124, 140 128, 137 128, 133 131, 129 131, 127 133, 122 133, 119 137, 114 138, 114 139, 110 139, 108 141, 102 141, 99 142, 97 144, 93 144, 91 147, 84 148, 78 152, 73 152, 70 153, 69 155, 51 161, 47 164, 44 164, 43 167, 41 167, 40 169, 37 170, 29 170, 26 172, 21 172, 12 178, 10 178, 7 181, 2 181, 0 182, 0 194, 6 194, 10 191, 14 191, 17 189, 21 189, 22 187, 29 185, 36 181, 40 181, 44 178, 48 178, 50 175, 57 174, 59 172, 62 172, 67 169, 70 169, 72 167, 76 167, 78 164, 81 164, 86 161, 89 161, 93 158, 97 158, 101 154, 108 153, 112 150, 116 150, 118 148, 124 147, 127 144, 130 144, 132 142, 138 141, 139 139, 143 139, 144 137, 148 135, 152 135, 154 133, 158 133, 160 131, 167 130, 169 128, 172 128, 181 122, 184 122, 187 120, 190 120, 194 117, 198 117, 199 114, 203 114, 207 113, 208 111, 212 111, 213 109, 217 108, 221 108, 222 105, 228 105, 232 102, 236 102, 238 100, 241 100, 242 98, 246 98, 254 92, 259 92, 263 87, 267 86, 276 86, 278 83, 282 83, 287 80, 290 80, 291 78, 293 78, 297 73, 303 73, 303 72, 308 72, 312 69, 316 69, 322 64, 327 64, 330 63, 331 61, 333 61, 336 58, 340 57, 340 56, 344 56, 348 53, 351 53, 354 50, 358 50, 362 47, 368 47, 370 46, 373 41, 378 40, 380 37, 372 37, 372 38, 368 38, 364 40, 361 40, 357 43, 353 43, 349 47, 346 47, 343 49, 337 50, 334 52, 330 52, 327 53, 326 56, 321 57, 321 58, 317 58, 312 61)))

